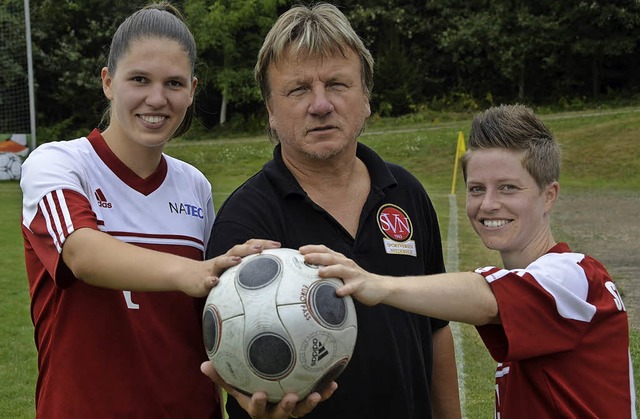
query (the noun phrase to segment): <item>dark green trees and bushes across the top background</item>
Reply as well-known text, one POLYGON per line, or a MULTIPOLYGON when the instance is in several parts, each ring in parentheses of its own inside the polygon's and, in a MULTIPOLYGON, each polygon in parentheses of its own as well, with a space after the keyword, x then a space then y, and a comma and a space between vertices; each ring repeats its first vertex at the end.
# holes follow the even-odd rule
MULTIPOLYGON (((0 28, 18 24, 22 1, 1 1, 13 14, 3 15, 0 28)), ((68 125, 69 133, 61 136, 69 138, 70 132, 98 124, 107 105, 99 73, 111 36, 144 3, 31 1, 38 129, 68 125)), ((262 107, 253 80, 256 55, 276 17, 294 2, 174 4, 184 11, 198 43, 198 117, 211 127, 224 109, 229 121, 246 124, 262 107)), ((440 110, 448 102, 453 108, 447 111, 473 111, 474 106, 515 101, 575 109, 580 102, 593 106, 589 102, 597 95, 637 101, 640 3, 635 0, 335 4, 376 60, 372 109, 381 116, 407 115, 424 107, 440 110), (467 103, 456 95, 467 96, 467 103)), ((15 55, 20 48, 8 47, 3 54, 15 55)), ((11 85, 23 67, 11 57, 0 57, 0 85, 11 85)))

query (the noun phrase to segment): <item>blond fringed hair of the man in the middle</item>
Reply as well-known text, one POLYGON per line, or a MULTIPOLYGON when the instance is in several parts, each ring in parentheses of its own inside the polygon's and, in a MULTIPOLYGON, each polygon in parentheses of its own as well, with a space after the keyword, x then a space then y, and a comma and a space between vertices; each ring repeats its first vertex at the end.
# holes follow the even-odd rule
POLYGON ((269 65, 278 63, 285 53, 298 59, 345 56, 346 48, 360 58, 362 86, 371 97, 373 57, 340 9, 328 3, 292 7, 276 20, 258 53, 255 78, 263 100, 271 98, 269 65))

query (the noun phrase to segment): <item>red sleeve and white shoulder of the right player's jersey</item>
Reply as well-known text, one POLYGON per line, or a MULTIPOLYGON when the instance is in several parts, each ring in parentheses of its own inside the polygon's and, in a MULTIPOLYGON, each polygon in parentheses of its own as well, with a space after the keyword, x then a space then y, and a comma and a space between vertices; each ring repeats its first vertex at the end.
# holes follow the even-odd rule
POLYGON ((596 315, 616 315, 620 297, 611 277, 580 253, 550 252, 525 269, 477 269, 491 286, 501 326, 478 330, 496 360, 527 359, 579 346, 596 315), (544 336, 544 339, 540 337, 544 336))

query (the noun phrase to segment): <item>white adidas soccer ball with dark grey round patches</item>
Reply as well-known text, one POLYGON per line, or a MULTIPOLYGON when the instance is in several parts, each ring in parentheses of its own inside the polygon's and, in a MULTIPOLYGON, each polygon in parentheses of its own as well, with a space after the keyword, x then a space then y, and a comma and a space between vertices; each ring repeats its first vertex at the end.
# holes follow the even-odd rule
POLYGON ((218 374, 238 390, 286 393, 300 399, 335 380, 356 342, 351 297, 338 297, 336 278, 293 249, 250 255, 226 270, 203 313, 204 342, 218 374))

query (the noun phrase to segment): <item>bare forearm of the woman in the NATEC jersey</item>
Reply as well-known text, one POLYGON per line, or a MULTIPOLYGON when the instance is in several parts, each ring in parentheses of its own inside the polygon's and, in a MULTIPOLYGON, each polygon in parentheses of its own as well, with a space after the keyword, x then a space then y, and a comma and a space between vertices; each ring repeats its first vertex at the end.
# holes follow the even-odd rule
POLYGON ((181 278, 195 262, 88 228, 67 238, 62 258, 73 274, 88 284, 129 291, 182 290, 181 278))

